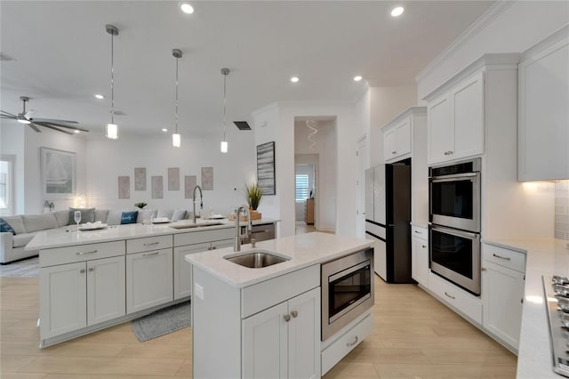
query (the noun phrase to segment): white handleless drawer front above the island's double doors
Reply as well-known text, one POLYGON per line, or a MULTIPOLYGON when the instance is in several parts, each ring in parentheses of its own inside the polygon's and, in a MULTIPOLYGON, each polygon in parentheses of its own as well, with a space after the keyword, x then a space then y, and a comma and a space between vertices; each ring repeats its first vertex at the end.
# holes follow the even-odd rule
POLYGON ((317 286, 320 286, 319 264, 246 286, 241 290, 241 317, 247 318, 317 286))

